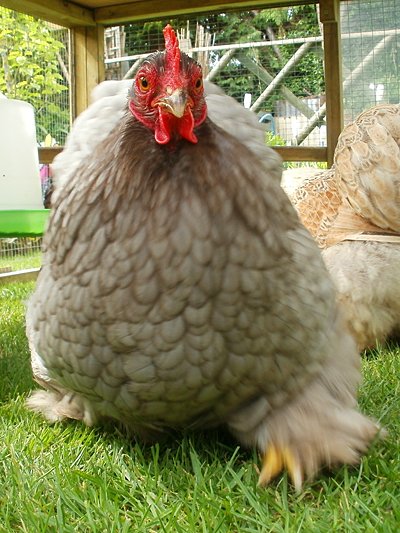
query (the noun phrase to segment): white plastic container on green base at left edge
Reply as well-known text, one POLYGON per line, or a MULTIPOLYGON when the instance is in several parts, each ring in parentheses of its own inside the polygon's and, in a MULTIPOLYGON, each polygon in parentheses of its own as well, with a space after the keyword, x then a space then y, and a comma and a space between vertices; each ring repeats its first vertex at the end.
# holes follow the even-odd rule
POLYGON ((42 208, 34 109, 0 98, 0 210, 42 208))

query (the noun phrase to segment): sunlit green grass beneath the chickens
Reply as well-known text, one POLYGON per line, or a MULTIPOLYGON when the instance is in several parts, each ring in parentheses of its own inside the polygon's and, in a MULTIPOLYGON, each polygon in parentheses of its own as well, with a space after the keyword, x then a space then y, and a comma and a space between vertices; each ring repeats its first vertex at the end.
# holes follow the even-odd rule
POLYGON ((24 334, 32 284, 0 287, 0 532, 397 532, 400 350, 364 357, 360 401, 389 430, 359 467, 321 473, 296 494, 286 475, 257 487, 255 452, 224 432, 154 446, 117 429, 47 425, 24 334))

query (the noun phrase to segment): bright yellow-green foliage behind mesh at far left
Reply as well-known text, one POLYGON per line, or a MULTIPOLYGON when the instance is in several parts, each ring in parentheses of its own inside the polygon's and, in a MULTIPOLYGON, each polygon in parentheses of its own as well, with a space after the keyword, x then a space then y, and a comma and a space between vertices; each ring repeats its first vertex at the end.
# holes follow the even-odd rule
POLYGON ((64 48, 47 23, 0 9, 0 91, 33 105, 38 140, 50 133, 62 143, 69 129, 63 96, 68 86, 60 67, 64 48))

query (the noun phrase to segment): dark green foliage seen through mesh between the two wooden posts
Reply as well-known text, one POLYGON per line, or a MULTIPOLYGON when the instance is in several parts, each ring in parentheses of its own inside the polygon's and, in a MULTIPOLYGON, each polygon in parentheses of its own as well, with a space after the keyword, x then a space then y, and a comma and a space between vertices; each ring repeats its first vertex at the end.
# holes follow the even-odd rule
MULTIPOLYGON (((163 49, 162 28, 169 22, 176 29, 186 28, 187 20, 170 19, 145 24, 129 24, 125 27, 127 34, 127 54, 150 52, 156 48, 163 49)), ((313 5, 291 8, 263 9, 243 12, 211 13, 189 20, 192 39, 196 32, 196 23, 213 36, 213 43, 259 42, 273 39, 289 39, 319 35, 316 8, 313 5)), ((250 57, 275 76, 297 50, 298 45, 266 46, 251 50, 250 57)), ((307 53, 296 66, 296 75, 285 78, 285 86, 296 96, 318 95, 324 90, 323 61, 320 46, 317 45, 307 53)), ((212 52, 210 61, 215 64, 223 54, 212 52)), ((265 88, 265 82, 254 75, 233 58, 215 79, 216 83, 228 94, 243 100, 246 92, 258 96, 265 88)), ((275 100, 281 99, 279 91, 265 103, 265 110, 271 111, 275 100)))

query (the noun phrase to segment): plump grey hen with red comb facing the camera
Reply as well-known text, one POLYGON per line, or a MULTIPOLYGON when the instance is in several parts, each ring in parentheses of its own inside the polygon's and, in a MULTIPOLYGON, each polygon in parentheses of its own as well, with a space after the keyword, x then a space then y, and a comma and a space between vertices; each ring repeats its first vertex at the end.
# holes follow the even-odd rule
POLYGON ((379 429, 357 409, 358 354, 276 156, 207 117, 200 67, 164 34, 59 185, 27 309, 46 390, 28 405, 145 439, 224 424, 261 452, 260 484, 286 468, 299 489, 379 429))

